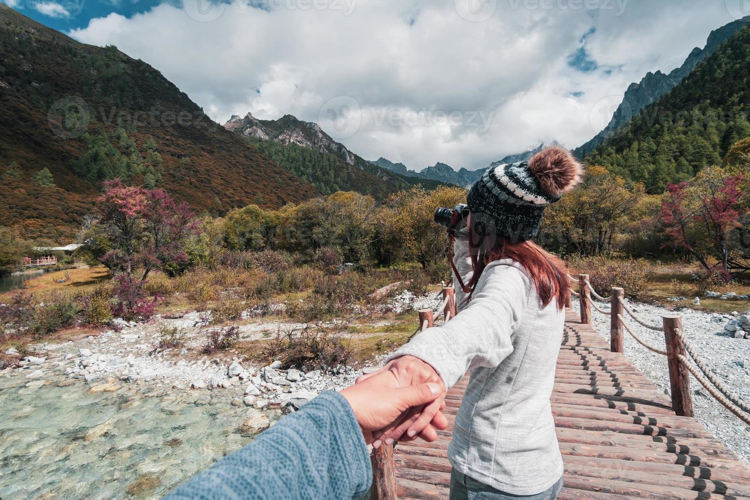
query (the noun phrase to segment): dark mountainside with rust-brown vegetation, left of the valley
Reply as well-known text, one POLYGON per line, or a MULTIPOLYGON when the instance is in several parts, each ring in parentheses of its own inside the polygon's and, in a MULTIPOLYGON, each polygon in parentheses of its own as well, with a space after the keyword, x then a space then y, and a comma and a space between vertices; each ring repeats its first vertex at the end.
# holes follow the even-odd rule
POLYGON ((78 43, 5 4, 0 109, 0 226, 25 238, 72 238, 110 178, 163 187, 214 215, 320 193, 145 62, 78 43))

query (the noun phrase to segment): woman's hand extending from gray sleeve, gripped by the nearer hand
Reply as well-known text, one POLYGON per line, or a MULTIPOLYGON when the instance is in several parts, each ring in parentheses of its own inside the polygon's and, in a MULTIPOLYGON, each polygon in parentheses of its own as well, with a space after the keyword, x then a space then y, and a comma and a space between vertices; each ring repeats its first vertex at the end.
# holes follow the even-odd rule
POLYGON ((437 439, 435 428, 445 429, 448 427, 448 421, 445 415, 440 412, 445 406, 446 385, 435 369, 414 356, 401 356, 401 358, 390 361, 377 373, 359 377, 356 385, 367 382, 382 373, 392 373, 401 388, 425 383, 437 384, 440 386, 440 396, 425 406, 413 406, 407 412, 404 412, 404 415, 401 415, 400 418, 392 423, 389 422, 389 425, 375 433, 374 448, 378 448, 383 442, 386 445, 391 445, 398 439, 412 441, 417 436, 429 442, 437 439))

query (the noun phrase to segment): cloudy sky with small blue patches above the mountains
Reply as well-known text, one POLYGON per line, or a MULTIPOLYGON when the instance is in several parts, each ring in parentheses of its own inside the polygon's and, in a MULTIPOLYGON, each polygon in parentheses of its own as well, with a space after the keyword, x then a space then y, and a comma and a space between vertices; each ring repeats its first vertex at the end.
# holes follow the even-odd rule
POLYGON ((0 0, 160 70, 211 118, 296 115, 367 159, 574 148, 747 0, 0 0))

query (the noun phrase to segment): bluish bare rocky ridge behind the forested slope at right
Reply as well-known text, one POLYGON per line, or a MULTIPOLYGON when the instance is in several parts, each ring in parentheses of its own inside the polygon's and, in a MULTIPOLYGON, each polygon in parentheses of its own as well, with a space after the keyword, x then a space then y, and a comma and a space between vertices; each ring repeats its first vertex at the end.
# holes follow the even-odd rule
POLYGON ((615 130, 623 127, 631 118, 637 115, 643 108, 651 103, 658 100, 659 97, 667 94, 670 90, 676 87, 679 82, 685 79, 685 76, 691 73, 692 70, 699 64, 706 60, 709 55, 712 55, 722 43, 729 40, 733 34, 735 34, 744 25, 750 22, 750 16, 746 16, 742 19, 730 22, 727 25, 721 26, 721 28, 711 31, 706 46, 703 49, 695 47, 682 66, 675 68, 669 74, 661 73, 646 73, 646 76, 640 80, 640 83, 631 83, 628 90, 625 91, 625 97, 622 103, 617 107, 612 120, 607 124, 604 130, 601 130, 596 136, 586 144, 576 148, 573 154, 578 158, 584 158, 587 154, 593 151, 604 139, 611 136, 615 130))

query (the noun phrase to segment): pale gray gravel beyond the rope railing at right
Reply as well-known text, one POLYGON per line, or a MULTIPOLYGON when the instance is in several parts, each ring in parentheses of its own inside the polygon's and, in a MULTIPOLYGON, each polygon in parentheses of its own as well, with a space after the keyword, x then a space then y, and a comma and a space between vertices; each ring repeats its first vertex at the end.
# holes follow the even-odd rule
MULTIPOLYGON (((609 309, 608 304, 597 305, 603 310, 609 309)), ((734 319, 733 316, 702 313, 688 308, 670 311, 663 307, 636 302, 631 302, 630 306, 640 318, 653 325, 661 325, 662 316, 677 314, 682 317, 685 335, 706 365, 742 400, 750 401, 750 340, 736 339, 724 331, 724 325, 734 319)), ((573 301, 573 310, 580 310, 577 300, 573 301)), ((632 320, 627 322, 641 339, 652 346, 664 349, 664 334, 643 328, 632 320)), ((592 323, 602 337, 610 339, 609 316, 592 310, 592 323)), ((664 356, 640 346, 627 332, 625 355, 643 375, 664 391, 664 394, 669 394, 669 374, 664 356)), ((717 403, 692 376, 690 388, 693 394, 695 420, 705 425, 742 460, 750 463, 750 426, 742 423, 739 418, 717 403)))

